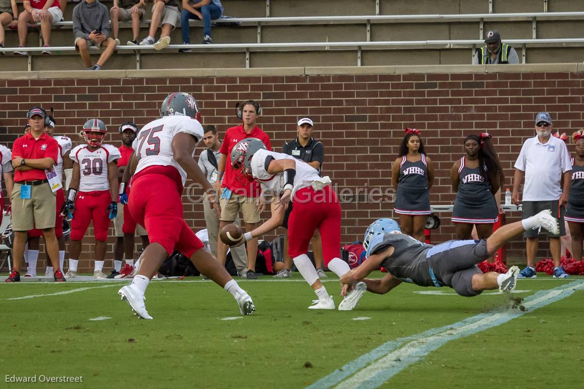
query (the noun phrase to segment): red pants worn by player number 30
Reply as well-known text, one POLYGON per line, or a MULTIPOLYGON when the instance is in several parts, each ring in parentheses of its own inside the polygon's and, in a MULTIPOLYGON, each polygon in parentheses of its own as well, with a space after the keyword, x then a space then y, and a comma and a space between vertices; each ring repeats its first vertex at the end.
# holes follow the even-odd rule
POLYGON ((80 241, 89 227, 89 222, 93 220, 95 239, 105 242, 110 225, 107 209, 110 203, 112 203, 112 193, 109 190, 77 193, 75 211, 71 219, 71 240, 80 241))

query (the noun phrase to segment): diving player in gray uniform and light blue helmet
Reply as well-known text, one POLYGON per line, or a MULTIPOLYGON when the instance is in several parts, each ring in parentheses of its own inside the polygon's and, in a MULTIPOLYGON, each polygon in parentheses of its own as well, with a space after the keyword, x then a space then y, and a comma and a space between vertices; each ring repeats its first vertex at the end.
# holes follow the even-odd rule
MULTIPOLYGON (((510 292, 515 289, 519 268, 512 266, 506 274, 483 274, 477 263, 492 256, 503 244, 524 231, 545 228, 559 231, 551 210, 543 210, 535 216, 503 225, 487 239, 480 241, 448 241, 439 245, 422 243, 401 233, 395 220, 382 218, 373 222, 365 232, 363 246, 367 260, 340 277, 341 294, 353 289, 359 282, 367 284, 367 290, 385 294, 402 282, 419 286, 449 286, 460 296, 471 297, 483 290, 499 289, 510 292), (382 279, 366 279, 373 270, 383 266, 388 275, 382 279)), ((357 287, 356 291, 360 291, 357 287)), ((360 293, 352 293, 359 301, 360 293)), ((345 298, 346 301, 347 298, 345 298)), ((349 304, 347 301, 345 304, 349 304)))

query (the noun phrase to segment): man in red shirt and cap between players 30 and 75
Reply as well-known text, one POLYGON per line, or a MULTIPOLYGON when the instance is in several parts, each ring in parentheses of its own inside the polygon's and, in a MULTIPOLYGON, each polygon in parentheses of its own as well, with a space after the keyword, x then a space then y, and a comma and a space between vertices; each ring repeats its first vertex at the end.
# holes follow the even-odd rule
MULTIPOLYGON (((121 146, 118 147, 121 158, 117 160, 118 182, 121 182, 121 176, 126 170, 128 161, 134 152, 132 143, 136 138, 138 126, 132 121, 126 121, 122 124, 118 131, 121 135, 121 146)), ((119 200, 119 199, 118 199, 119 200)), ((127 278, 131 277, 134 271, 134 233, 137 231, 140 238, 142 238, 142 249, 145 249, 148 244, 148 232, 137 224, 134 218, 128 211, 128 204, 117 206, 118 212, 114 219, 114 231, 116 233, 116 245, 114 246, 114 261, 112 273, 107 278, 127 278), (121 268, 121 260, 126 254, 126 264, 121 268)))

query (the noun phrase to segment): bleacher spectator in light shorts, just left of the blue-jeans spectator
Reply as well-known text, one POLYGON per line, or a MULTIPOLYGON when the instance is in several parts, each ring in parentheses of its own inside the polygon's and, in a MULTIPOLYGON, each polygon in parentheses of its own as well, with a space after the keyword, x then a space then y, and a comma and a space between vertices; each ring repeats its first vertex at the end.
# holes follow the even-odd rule
POLYGON ((162 50, 168 46, 171 43, 171 31, 175 29, 179 16, 179 0, 154 0, 149 35, 142 39, 140 45, 150 46, 154 44, 156 50, 162 50), (160 39, 157 43, 154 43, 154 36, 158 26, 161 26, 160 39))

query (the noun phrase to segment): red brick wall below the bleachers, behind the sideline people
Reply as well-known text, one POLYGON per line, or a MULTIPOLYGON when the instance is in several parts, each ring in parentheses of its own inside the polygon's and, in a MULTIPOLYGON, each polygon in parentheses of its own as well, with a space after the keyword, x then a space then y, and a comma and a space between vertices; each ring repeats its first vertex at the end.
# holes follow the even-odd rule
MULTIPOLYGON (((143 125, 154 119, 160 102, 171 92, 192 93, 199 101, 203 123, 217 125, 221 133, 238 124, 236 102, 256 99, 263 107, 259 125, 272 138, 276 151, 284 141, 295 137, 299 116, 314 118, 314 135, 325 145, 323 173, 331 176, 338 192, 343 188, 353 192, 357 188, 389 189, 391 162, 397 157, 404 127, 419 128, 427 154, 436 166, 432 203, 451 204, 454 193, 449 171, 463 152, 462 141, 467 134, 486 130, 493 135, 505 169, 505 186, 510 187, 513 162, 523 141, 534 134, 537 112, 549 111, 560 132, 571 134, 584 127, 583 75, 566 71, 0 79, 0 142, 11 146, 26 123, 26 110, 33 104, 53 106, 57 134, 71 136, 74 144, 81 141, 75 133, 85 120, 99 117, 110 126, 108 141, 117 145, 119 124, 134 120, 143 125)), ((351 197, 346 196, 347 202, 342 204, 342 242, 361 239, 375 218, 394 216, 391 203, 364 202, 363 194, 358 200, 351 197)), ((185 217, 195 230, 204 228, 201 204, 187 202, 186 195, 184 198, 185 217)), ((442 227, 433 234, 436 242, 453 236, 450 215, 443 216, 442 227)), ((507 221, 513 220, 517 220, 517 214, 507 217, 507 221)), ((92 259, 91 242, 84 241, 82 259, 92 259)), ((107 258, 112 259, 113 238, 109 242, 107 258)), ((546 254, 542 250, 540 258, 546 254)), ((523 260, 520 239, 510 244, 508 255, 523 260)), ((81 265, 87 268, 89 262, 81 265)))

